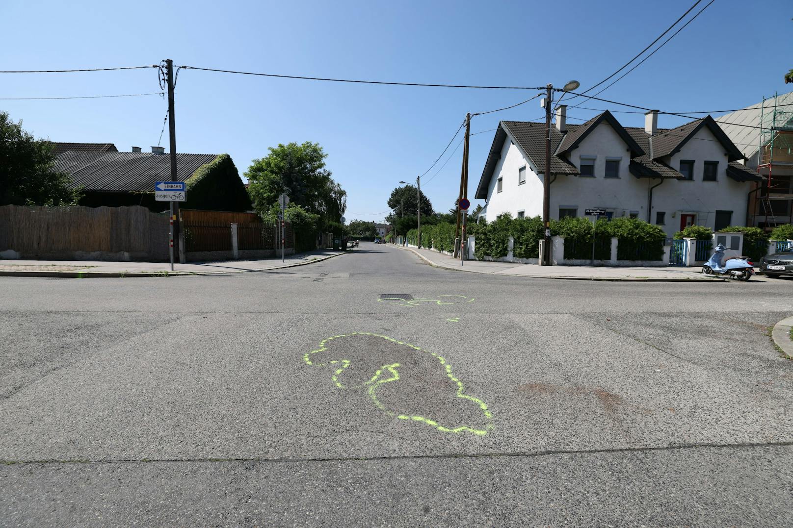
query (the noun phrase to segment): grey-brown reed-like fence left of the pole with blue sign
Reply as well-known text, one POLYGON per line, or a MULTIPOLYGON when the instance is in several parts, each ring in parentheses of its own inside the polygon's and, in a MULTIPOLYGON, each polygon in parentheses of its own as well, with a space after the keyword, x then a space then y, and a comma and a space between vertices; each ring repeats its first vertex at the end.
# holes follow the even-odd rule
POLYGON ((0 251, 17 258, 167 260, 167 214, 144 207, 0 206, 0 251))

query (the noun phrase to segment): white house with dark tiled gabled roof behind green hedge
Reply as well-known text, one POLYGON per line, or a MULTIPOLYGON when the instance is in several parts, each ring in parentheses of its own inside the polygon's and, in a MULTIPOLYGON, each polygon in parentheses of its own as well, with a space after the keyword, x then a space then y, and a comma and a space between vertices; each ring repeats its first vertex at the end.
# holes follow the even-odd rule
MULTIPOLYGON (((623 127, 608 111, 579 125, 565 123, 564 105, 551 128, 550 216, 632 216, 658 224, 672 236, 686 225, 714 230, 745 225, 748 194, 762 178, 745 167, 712 117, 677 128, 623 127)), ((545 124, 501 121, 475 197, 487 205, 480 217, 505 212, 542 215, 545 124)))

